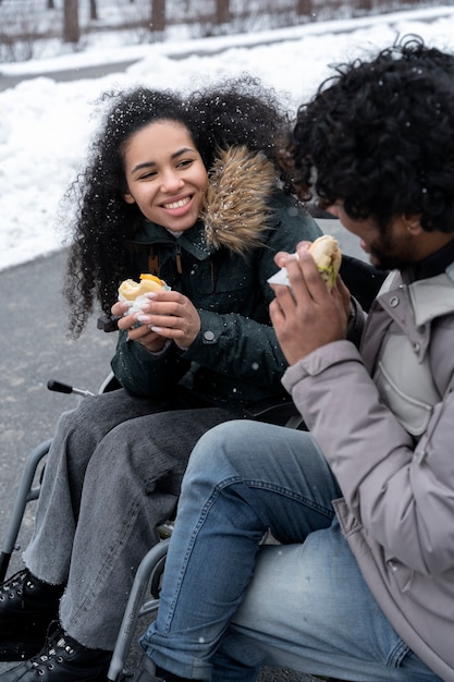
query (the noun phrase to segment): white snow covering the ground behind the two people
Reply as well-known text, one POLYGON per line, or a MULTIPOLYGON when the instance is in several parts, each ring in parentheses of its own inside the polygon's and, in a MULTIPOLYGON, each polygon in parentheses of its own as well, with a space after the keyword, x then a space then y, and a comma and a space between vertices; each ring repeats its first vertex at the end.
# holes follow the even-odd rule
POLYGON ((99 41, 84 53, 1 64, 3 75, 36 74, 0 92, 0 270, 61 248, 58 206, 83 166, 96 129, 95 102, 112 87, 144 84, 193 89, 205 81, 250 73, 289 99, 309 98, 329 65, 376 52, 417 34, 454 51, 454 8, 308 24, 289 29, 122 46, 99 41), (46 73, 137 60, 125 72, 58 82, 46 73))

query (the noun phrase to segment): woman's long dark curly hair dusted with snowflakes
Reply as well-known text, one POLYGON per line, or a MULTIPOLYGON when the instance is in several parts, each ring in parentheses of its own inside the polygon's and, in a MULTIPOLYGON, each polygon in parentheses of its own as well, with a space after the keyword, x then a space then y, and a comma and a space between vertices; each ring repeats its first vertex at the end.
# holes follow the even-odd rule
POLYGON ((78 337, 95 302, 110 313, 125 277, 125 242, 143 224, 136 204, 126 204, 124 149, 144 126, 159 120, 183 123, 207 170, 220 148, 245 145, 274 163, 283 186, 290 182, 279 162, 279 141, 289 120, 277 94, 248 75, 183 96, 136 87, 105 93, 102 124, 89 147, 84 172, 66 192, 61 221, 70 231, 63 294, 70 304, 70 333, 78 337))

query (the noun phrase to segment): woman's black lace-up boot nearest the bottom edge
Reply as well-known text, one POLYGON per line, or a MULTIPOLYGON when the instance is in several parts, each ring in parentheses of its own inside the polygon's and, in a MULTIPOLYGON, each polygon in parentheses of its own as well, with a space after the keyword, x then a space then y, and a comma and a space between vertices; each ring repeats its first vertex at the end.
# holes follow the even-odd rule
POLYGON ((112 651, 88 649, 66 635, 57 621, 42 650, 0 674, 1 682, 105 682, 112 651))

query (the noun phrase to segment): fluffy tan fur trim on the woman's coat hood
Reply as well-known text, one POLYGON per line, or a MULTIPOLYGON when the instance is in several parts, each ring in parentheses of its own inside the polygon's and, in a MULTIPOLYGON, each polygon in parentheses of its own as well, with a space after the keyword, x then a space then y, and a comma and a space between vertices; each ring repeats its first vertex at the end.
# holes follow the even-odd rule
POLYGON ((221 150, 209 173, 201 214, 207 242, 240 255, 259 245, 277 181, 274 166, 262 153, 244 146, 221 150))

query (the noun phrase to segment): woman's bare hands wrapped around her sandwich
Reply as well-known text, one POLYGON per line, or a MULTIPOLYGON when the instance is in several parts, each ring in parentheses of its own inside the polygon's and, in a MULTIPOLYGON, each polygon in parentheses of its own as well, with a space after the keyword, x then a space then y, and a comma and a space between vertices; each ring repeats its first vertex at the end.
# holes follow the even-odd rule
POLYGON ((154 291, 146 296, 149 303, 125 317, 127 302, 112 306, 112 313, 121 316, 119 329, 127 329, 128 338, 151 353, 162 350, 168 339, 181 349, 189 348, 200 331, 200 316, 189 299, 176 291, 154 291))

